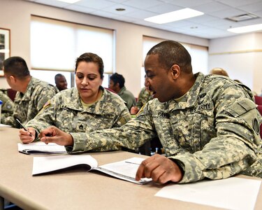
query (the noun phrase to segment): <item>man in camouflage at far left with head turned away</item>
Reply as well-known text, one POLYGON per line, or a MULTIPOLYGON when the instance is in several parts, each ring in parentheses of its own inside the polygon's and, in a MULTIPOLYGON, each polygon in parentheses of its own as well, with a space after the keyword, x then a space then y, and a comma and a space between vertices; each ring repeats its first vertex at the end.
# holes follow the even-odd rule
POLYGON ((1 118, 1 123, 20 127, 15 118, 25 125, 43 108, 45 102, 57 93, 57 88, 30 75, 22 57, 9 57, 3 61, 3 73, 8 85, 17 91, 13 116, 1 118))

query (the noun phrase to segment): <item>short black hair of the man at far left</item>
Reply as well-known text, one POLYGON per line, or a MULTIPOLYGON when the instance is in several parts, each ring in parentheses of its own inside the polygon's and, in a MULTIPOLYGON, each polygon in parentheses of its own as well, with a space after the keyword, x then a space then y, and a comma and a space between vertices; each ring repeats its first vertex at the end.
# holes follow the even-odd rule
POLYGON ((30 75, 27 63, 22 57, 8 57, 3 61, 3 71, 17 78, 25 78, 30 75))

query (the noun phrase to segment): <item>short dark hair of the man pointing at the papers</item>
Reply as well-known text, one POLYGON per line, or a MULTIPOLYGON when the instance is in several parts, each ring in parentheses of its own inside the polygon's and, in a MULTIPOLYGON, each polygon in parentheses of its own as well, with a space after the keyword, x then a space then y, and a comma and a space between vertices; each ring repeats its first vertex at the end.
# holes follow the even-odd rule
POLYGON ((187 49, 177 41, 162 41, 154 45, 147 55, 159 55, 159 63, 166 69, 177 64, 184 73, 192 72, 191 56, 187 49))

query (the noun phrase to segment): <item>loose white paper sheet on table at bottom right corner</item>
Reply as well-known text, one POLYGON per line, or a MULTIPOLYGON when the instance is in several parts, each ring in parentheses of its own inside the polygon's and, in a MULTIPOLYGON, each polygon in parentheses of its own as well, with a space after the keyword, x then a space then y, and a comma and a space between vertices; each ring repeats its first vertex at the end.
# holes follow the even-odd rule
POLYGON ((196 183, 170 184, 155 196, 224 209, 254 209, 261 181, 231 177, 196 183))

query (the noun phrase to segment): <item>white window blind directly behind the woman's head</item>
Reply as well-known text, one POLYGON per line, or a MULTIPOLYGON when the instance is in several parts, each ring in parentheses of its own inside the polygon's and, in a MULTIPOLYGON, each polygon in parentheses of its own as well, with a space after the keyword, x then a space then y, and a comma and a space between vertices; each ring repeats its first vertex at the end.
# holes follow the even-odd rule
POLYGON ((31 16, 31 68, 74 71, 85 52, 99 55, 105 73, 113 72, 114 31, 31 16))

